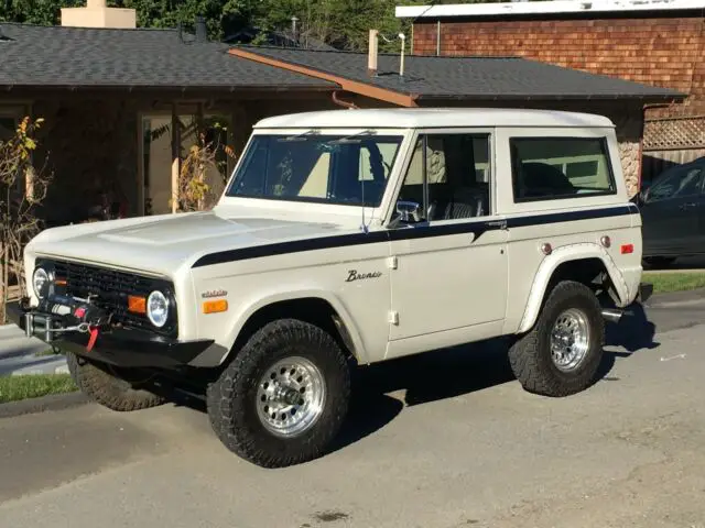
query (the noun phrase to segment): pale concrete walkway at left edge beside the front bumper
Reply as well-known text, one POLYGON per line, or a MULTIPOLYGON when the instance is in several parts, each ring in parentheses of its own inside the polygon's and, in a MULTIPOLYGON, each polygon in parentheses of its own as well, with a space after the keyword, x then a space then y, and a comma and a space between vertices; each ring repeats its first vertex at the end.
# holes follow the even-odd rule
POLYGON ((14 324, 0 327, 0 376, 68 372, 63 355, 37 355, 47 350, 46 343, 26 339, 14 324))

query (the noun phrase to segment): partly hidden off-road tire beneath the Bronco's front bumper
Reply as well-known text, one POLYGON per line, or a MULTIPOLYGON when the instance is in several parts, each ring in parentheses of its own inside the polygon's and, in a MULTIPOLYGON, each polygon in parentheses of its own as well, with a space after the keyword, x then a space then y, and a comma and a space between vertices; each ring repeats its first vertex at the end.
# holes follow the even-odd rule
POLYGON ((127 413, 156 407, 165 403, 161 396, 142 388, 133 388, 107 370, 73 354, 66 353, 66 363, 74 383, 96 403, 111 410, 127 413))

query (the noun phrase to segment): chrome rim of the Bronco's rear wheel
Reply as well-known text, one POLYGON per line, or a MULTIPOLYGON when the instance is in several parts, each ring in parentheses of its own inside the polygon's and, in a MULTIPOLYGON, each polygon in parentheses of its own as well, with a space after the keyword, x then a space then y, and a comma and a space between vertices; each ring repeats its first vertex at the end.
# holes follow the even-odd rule
POLYGON ((571 308, 561 314, 551 330, 551 358, 563 372, 575 370, 585 359, 590 345, 587 317, 571 308))

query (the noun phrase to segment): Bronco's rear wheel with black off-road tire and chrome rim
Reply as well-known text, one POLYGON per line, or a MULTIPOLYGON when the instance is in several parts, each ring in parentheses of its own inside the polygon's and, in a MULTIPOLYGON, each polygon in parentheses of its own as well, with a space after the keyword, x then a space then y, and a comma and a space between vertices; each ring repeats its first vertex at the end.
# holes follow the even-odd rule
POLYGON ((549 294, 533 329, 509 350, 509 363, 522 387, 563 397, 596 381, 604 355, 605 321, 594 292, 565 280, 549 294))

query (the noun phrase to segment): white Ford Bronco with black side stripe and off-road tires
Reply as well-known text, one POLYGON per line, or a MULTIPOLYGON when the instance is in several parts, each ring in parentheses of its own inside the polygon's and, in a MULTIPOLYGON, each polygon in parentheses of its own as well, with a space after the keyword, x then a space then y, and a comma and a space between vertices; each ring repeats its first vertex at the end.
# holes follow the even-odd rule
POLYGON ((528 392, 585 389, 641 251, 606 118, 310 112, 260 121, 210 211, 43 231, 10 311, 98 403, 188 384, 275 468, 329 448, 355 365, 502 337, 528 392))

